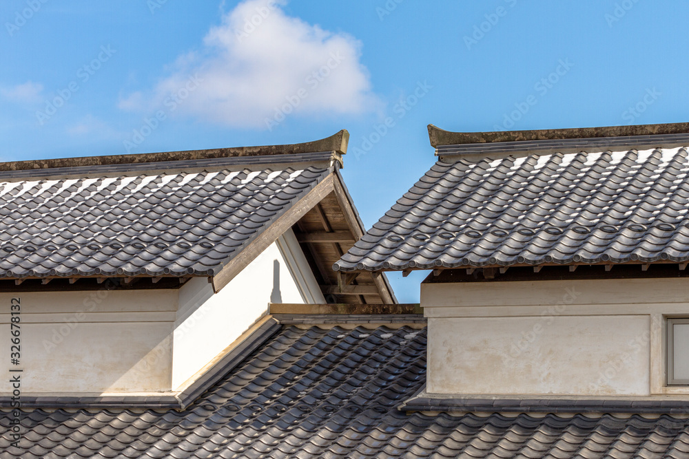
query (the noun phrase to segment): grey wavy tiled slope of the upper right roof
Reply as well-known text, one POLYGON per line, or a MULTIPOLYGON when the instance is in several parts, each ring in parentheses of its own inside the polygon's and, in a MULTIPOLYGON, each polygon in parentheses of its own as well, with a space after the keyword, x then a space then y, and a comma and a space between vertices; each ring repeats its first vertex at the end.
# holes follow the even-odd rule
POLYGON ((689 261, 687 156, 442 158, 333 268, 689 261))

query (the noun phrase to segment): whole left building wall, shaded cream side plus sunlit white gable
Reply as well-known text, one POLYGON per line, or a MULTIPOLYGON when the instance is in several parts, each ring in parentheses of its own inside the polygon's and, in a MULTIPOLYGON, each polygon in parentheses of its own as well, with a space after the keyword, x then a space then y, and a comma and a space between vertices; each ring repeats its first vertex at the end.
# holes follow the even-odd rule
MULTIPOLYGON (((174 391, 265 314, 271 301, 325 303, 291 231, 218 294, 207 278, 176 290, 0 292, 0 372, 21 367, 27 396, 174 391), (10 363, 16 297, 18 366, 10 363)), ((0 381, 0 395, 10 393, 9 378, 0 381)))

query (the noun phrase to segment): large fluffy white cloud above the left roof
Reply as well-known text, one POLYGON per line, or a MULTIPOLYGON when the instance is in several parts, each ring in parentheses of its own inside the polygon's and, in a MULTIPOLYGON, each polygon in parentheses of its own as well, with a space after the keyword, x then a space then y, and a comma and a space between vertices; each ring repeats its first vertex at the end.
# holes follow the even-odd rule
POLYGON ((202 50, 179 56, 172 74, 147 94, 123 96, 119 107, 162 108, 233 127, 267 127, 280 114, 376 108, 361 43, 287 16, 285 3, 243 1, 209 30, 202 50))

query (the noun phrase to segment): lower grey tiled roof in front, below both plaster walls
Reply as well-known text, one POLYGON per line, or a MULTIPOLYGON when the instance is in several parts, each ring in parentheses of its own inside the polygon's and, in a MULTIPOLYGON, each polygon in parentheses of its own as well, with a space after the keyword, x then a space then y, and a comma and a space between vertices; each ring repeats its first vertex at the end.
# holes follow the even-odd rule
POLYGON ((406 414, 426 334, 284 326, 182 412, 37 409, 19 448, 0 413, 0 459, 688 458, 689 420, 406 414))

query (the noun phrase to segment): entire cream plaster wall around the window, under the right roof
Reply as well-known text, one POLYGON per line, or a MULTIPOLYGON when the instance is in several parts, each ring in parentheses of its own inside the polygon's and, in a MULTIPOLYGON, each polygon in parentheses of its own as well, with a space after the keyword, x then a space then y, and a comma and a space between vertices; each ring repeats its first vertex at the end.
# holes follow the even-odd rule
POLYGON ((689 316, 685 279, 422 284, 427 392, 689 394, 668 387, 666 317, 689 316))

